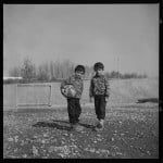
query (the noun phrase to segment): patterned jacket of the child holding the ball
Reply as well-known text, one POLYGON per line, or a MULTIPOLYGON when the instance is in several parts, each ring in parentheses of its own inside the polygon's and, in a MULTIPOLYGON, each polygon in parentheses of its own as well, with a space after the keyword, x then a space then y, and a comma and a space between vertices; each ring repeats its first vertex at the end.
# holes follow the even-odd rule
POLYGON ((65 86, 65 85, 73 85, 75 90, 76 90, 76 96, 74 98, 80 98, 83 90, 84 90, 84 82, 83 79, 78 76, 78 75, 72 75, 70 76, 67 79, 63 80, 61 83, 61 89, 65 86))

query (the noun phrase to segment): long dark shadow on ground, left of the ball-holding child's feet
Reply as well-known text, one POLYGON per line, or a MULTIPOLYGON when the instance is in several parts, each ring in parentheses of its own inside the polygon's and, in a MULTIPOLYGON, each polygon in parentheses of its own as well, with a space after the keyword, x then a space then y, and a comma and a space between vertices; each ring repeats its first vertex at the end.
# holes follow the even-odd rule
POLYGON ((57 121, 54 122, 37 122, 36 124, 33 125, 33 127, 50 127, 50 128, 57 128, 57 129, 62 129, 62 130, 71 130, 71 126, 66 126, 64 121, 57 121), (60 122, 60 124, 59 124, 60 122), (62 124, 63 123, 63 124, 62 124))

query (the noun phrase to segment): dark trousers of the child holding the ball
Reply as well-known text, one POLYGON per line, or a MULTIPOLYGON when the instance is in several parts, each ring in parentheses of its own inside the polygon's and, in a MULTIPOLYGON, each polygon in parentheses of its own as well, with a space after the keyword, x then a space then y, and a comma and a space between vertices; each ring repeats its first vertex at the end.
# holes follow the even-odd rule
POLYGON ((71 124, 76 124, 79 122, 78 118, 82 113, 79 99, 77 98, 67 99, 67 112, 68 112, 68 118, 71 124))

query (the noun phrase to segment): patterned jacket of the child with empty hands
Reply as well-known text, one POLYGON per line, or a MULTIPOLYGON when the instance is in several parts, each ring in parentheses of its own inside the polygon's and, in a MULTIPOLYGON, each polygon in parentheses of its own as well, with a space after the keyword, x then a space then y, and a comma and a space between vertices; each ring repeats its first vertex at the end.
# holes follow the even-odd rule
POLYGON ((104 75, 95 75, 90 80, 89 97, 103 95, 104 97, 110 96, 109 80, 104 75))

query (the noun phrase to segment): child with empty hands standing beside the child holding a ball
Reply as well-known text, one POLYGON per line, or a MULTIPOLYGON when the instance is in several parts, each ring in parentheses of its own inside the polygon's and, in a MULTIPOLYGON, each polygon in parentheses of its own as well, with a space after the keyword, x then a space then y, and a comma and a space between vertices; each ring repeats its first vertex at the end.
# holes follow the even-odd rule
POLYGON ((95 99, 95 110, 97 118, 99 120, 96 130, 102 130, 104 127, 105 105, 110 97, 110 85, 103 75, 104 65, 97 62, 93 65, 96 75, 90 80, 89 97, 90 102, 95 99))

